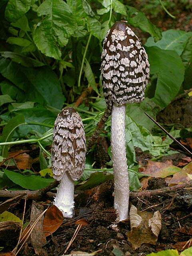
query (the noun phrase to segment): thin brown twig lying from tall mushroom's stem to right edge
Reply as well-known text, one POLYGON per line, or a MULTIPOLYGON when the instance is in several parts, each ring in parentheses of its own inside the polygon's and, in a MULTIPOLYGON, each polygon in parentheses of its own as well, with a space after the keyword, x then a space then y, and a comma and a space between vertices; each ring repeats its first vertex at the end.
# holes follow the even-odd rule
POLYGON ((154 190, 145 190, 141 192, 130 192, 131 197, 142 197, 142 196, 156 196, 166 194, 168 192, 174 192, 183 188, 190 188, 192 187, 192 181, 186 182, 184 184, 179 184, 175 186, 159 188, 154 190))

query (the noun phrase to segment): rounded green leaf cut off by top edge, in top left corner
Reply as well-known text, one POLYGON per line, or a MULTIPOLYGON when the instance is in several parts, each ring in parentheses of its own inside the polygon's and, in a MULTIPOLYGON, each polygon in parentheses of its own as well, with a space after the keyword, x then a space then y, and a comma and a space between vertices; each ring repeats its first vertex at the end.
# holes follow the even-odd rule
POLYGON ((5 9, 5 18, 10 22, 20 19, 31 6, 31 0, 9 0, 5 9))

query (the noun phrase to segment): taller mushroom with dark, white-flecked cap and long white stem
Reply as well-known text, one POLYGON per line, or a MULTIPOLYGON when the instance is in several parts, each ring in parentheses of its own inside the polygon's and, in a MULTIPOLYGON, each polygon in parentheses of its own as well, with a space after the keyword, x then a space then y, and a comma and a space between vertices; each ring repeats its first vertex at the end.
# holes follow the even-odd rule
POLYGON ((129 178, 125 146, 127 103, 144 100, 149 62, 138 37, 118 21, 108 31, 102 50, 102 86, 108 108, 112 107, 111 146, 114 171, 114 208, 119 220, 128 218, 129 178))

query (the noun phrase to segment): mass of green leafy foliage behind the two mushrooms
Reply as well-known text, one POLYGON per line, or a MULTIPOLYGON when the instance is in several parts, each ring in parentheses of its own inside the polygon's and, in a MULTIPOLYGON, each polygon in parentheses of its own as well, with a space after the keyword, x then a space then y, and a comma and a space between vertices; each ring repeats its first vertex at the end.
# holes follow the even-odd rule
MULTIPOLYGON (((184 0, 183 0, 184 1, 184 0)), ((131 1, 130 1, 131 2, 131 1)), ((165 108, 182 88, 191 88, 192 33, 167 30, 161 33, 147 18, 162 11, 158 1, 147 1, 139 10, 120 0, 9 0, 0 3, 0 118, 1 142, 36 143, 40 148, 40 169, 50 170, 52 127, 57 114, 71 106, 91 86, 92 97, 76 110, 83 118, 86 136, 95 130, 106 108, 100 81, 102 40, 116 20, 126 20, 148 36, 146 51, 150 62, 150 82, 146 99, 126 107, 126 150, 130 188, 140 187, 141 174, 136 165, 135 147, 150 151, 154 157, 171 154, 172 140, 162 141, 154 134, 153 118, 165 108), (154 6, 158 10, 154 11, 154 6), (183 82, 184 81, 184 82, 183 82), (183 84, 182 84, 183 82, 183 84), (43 139, 42 139, 43 138, 43 139), (47 157, 47 156, 48 157, 47 157)), ((174 4, 164 1, 170 11, 174 4)), ((132 3, 130 3, 133 5, 132 3)), ((186 5, 186 3, 184 3, 186 5)), ((140 38, 142 40, 142 38, 140 38)), ((144 39, 145 40, 145 39, 144 39)), ((110 118, 102 136, 110 139, 110 118)), ((11 145, 1 148, 1 158, 8 156, 11 145)), ((92 167, 92 153, 87 156, 81 189, 96 186, 112 178, 112 170, 92 167)), ((110 163, 109 163, 110 166, 110 163)), ((52 179, 4 170, 0 188, 39 189, 52 179), (7 185, 6 185, 7 184, 7 185)))

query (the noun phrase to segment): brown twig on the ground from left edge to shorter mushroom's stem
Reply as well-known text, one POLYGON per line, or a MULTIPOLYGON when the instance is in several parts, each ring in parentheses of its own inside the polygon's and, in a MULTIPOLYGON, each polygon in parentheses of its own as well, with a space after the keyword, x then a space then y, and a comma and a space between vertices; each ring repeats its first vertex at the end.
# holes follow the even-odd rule
POLYGON ((55 180, 54 182, 51 182, 47 187, 39 189, 39 190, 0 190, 0 197, 8 197, 11 198, 13 196, 18 196, 19 194, 23 194, 24 196, 26 195, 26 199, 33 199, 33 200, 42 200, 44 195, 52 190, 52 188, 55 188, 58 186, 59 181, 55 180))

